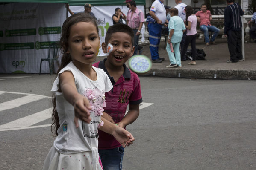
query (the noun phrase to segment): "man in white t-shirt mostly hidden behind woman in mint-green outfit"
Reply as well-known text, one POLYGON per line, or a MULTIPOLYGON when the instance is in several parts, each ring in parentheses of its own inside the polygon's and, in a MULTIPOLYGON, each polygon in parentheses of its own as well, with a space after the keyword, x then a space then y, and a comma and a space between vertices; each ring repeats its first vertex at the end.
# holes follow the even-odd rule
MULTIPOLYGON (((176 6, 174 6, 174 8, 177 8, 178 9, 178 16, 181 17, 182 20, 186 20, 186 12, 185 12, 185 7, 187 6, 185 3, 182 3, 182 0, 175 0, 175 3, 177 4, 176 6)), ((181 51, 182 51, 182 46, 184 44, 184 41, 185 41, 185 37, 186 37, 186 34, 187 32, 185 31, 183 33, 183 36, 182 36, 182 40, 180 42, 180 48, 181 48, 181 51)), ((181 58, 181 61, 185 61, 186 58, 181 58)))

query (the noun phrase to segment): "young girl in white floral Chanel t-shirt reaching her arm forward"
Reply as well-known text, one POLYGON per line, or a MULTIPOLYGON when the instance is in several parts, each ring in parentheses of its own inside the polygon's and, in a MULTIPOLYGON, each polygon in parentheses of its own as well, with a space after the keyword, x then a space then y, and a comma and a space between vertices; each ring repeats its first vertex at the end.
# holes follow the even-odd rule
POLYGON ((113 135, 123 147, 134 141, 127 130, 101 117, 106 106, 104 94, 112 89, 112 83, 102 69, 92 66, 100 49, 98 33, 89 14, 71 15, 63 23, 60 45, 64 55, 52 87, 57 137, 43 170, 102 170, 98 128, 113 135))

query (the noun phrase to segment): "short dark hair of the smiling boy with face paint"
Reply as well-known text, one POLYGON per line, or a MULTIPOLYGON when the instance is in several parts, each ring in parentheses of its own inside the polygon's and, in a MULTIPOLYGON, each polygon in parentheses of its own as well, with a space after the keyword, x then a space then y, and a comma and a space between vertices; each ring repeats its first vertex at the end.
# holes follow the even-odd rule
POLYGON ((116 32, 124 32, 127 33, 129 36, 131 36, 132 46, 134 45, 134 32, 133 30, 123 23, 116 23, 109 27, 106 36, 105 36, 105 43, 108 44, 112 34, 116 32))

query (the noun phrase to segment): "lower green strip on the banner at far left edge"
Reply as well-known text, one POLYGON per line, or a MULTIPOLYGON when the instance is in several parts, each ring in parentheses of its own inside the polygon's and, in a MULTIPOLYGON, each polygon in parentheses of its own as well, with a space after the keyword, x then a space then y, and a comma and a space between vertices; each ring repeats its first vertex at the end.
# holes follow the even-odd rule
POLYGON ((34 49, 34 43, 0 43, 0 51, 14 49, 34 49))

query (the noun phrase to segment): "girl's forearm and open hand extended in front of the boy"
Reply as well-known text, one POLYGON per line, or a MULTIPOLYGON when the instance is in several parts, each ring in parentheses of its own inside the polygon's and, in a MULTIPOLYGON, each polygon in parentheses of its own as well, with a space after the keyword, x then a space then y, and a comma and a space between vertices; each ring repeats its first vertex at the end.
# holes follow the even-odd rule
POLYGON ((106 133, 109 133, 115 137, 115 139, 122 144, 123 147, 129 146, 135 140, 131 133, 125 130, 122 127, 119 127, 105 118, 101 117, 101 120, 104 121, 104 125, 99 128, 106 133))

